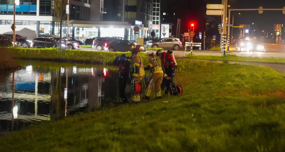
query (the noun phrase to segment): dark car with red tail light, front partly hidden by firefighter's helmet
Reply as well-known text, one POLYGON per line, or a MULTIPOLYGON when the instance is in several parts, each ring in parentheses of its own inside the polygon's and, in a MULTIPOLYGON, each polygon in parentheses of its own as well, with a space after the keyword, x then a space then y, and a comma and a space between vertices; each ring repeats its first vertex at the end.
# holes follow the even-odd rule
POLYGON ((146 48, 142 45, 135 45, 135 43, 129 40, 113 40, 105 43, 104 49, 109 52, 127 52, 131 51, 132 48, 139 48, 140 52, 145 52, 146 48))

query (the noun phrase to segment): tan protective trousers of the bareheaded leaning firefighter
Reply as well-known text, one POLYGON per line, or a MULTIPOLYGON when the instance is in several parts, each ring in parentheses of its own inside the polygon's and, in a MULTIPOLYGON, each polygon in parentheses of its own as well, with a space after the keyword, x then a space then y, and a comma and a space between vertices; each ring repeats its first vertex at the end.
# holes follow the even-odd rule
POLYGON ((162 83, 163 79, 163 73, 153 73, 150 76, 150 81, 148 82, 146 86, 146 93, 145 96, 150 96, 151 90, 152 90, 152 85, 154 84, 154 91, 155 91, 155 96, 159 97, 161 96, 161 88, 160 85, 162 83))

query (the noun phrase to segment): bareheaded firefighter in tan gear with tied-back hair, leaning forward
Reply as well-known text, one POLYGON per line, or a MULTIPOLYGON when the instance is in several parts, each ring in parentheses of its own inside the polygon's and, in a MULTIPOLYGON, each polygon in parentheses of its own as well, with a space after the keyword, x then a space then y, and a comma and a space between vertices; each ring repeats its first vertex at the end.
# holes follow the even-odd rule
POLYGON ((163 77, 167 77, 167 75, 162 70, 161 65, 154 57, 154 54, 148 55, 148 64, 144 68, 144 70, 150 70, 150 81, 148 82, 146 86, 146 93, 144 95, 144 99, 149 100, 150 99, 150 93, 152 89, 152 85, 154 84, 154 90, 155 90, 155 96, 156 98, 161 98, 161 83, 163 80, 163 77))

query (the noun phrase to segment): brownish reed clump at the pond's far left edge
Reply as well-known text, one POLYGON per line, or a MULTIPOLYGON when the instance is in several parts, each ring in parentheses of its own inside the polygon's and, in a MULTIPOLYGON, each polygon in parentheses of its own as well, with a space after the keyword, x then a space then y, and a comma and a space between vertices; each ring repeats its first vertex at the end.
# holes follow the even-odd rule
POLYGON ((11 52, 0 48, 0 70, 15 69, 18 67, 20 65, 12 59, 11 52))

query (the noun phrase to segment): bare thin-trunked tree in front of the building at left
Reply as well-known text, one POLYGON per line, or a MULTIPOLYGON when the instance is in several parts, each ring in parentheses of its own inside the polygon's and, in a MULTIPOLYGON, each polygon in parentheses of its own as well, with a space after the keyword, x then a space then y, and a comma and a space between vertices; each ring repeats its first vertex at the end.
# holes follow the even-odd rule
POLYGON ((59 27, 59 47, 61 47, 61 38, 62 38, 62 21, 65 17, 67 17, 66 14, 66 5, 67 0, 54 0, 54 13, 57 17, 59 27))

